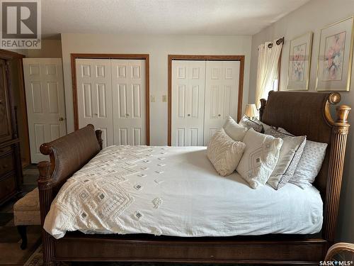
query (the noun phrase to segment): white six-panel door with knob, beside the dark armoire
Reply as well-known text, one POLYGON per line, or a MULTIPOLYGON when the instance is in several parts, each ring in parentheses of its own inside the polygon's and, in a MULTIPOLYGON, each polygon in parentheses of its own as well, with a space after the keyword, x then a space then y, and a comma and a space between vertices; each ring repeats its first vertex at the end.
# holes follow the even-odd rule
POLYGON ((23 58, 32 163, 48 160, 40 145, 67 134, 61 58, 23 58))

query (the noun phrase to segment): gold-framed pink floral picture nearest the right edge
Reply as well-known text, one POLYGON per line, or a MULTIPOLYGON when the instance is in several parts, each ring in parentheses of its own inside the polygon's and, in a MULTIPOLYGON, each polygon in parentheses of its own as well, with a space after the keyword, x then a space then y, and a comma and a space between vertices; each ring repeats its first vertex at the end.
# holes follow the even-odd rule
POLYGON ((317 91, 348 91, 353 60, 354 17, 321 29, 317 91))

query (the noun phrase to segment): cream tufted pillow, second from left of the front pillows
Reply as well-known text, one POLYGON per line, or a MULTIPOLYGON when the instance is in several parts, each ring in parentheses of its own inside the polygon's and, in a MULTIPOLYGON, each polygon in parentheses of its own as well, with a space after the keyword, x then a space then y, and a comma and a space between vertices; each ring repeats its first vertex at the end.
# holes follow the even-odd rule
POLYGON ((256 189, 268 181, 277 165, 282 139, 258 133, 251 128, 244 136, 243 142, 246 148, 236 170, 256 189))

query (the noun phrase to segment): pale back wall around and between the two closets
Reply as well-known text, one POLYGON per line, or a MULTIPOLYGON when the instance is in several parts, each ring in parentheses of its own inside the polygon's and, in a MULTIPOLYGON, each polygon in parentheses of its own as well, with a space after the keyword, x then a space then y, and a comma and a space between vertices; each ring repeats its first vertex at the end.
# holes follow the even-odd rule
POLYGON ((98 35, 62 33, 65 101, 68 133, 74 130, 71 53, 140 53, 150 55, 150 144, 167 143, 167 58, 176 55, 245 55, 244 97, 249 95, 251 36, 202 35, 98 35))

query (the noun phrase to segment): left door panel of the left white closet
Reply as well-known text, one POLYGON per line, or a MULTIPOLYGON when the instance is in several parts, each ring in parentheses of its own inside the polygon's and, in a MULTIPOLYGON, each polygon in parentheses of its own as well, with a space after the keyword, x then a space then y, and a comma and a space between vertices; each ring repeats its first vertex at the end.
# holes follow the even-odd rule
POLYGON ((76 59, 79 128, 91 123, 101 129, 103 148, 113 145, 110 60, 76 59))

